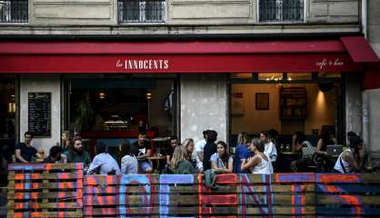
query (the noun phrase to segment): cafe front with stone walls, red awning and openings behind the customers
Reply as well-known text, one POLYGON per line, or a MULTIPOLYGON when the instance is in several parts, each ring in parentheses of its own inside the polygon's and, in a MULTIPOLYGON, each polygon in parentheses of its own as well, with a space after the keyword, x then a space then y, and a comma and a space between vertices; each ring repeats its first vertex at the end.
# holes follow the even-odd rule
POLYGON ((341 144, 348 131, 369 135, 363 92, 380 87, 379 59, 360 1, 299 1, 289 20, 265 18, 260 1, 173 1, 159 22, 120 19, 117 2, 74 15, 78 3, 34 0, 26 24, 1 24, 0 74, 14 90, 3 132, 14 128, 18 142, 35 128, 45 153, 65 130, 132 138, 140 121, 149 137, 197 141, 215 129, 230 144, 268 129, 317 135, 325 126, 341 144), (88 102, 92 123, 80 123, 77 106, 88 102))

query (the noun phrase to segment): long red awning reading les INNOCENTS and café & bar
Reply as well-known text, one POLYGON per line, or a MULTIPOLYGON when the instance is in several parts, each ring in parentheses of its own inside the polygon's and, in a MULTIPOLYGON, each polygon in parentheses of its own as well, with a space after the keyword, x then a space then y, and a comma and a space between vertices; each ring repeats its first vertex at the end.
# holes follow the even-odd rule
POLYGON ((347 52, 350 46, 342 43, 343 40, 3 41, 0 42, 0 73, 363 71, 364 64, 353 61, 347 52))

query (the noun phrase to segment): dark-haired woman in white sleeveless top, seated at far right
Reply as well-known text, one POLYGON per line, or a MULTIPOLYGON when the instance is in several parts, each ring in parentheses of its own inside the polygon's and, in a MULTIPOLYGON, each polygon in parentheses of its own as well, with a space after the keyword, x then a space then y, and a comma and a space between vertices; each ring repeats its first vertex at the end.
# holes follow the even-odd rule
POLYGON ((360 137, 349 135, 348 142, 349 148, 339 155, 332 173, 358 173, 363 170, 365 152, 360 137), (359 162, 355 159, 355 154, 359 155, 359 162))

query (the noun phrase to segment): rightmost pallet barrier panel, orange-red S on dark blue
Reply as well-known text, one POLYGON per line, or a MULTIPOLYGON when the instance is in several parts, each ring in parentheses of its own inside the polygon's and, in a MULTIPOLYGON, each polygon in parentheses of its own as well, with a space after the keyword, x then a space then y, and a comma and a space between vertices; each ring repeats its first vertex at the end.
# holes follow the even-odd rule
POLYGON ((380 174, 315 174, 318 215, 380 217, 380 174))

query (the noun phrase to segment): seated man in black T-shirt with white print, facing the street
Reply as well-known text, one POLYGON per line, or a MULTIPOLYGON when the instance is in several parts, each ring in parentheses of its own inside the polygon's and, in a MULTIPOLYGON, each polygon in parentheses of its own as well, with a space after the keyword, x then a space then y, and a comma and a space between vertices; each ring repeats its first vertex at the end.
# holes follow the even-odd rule
POLYGON ((146 140, 145 132, 138 133, 137 141, 132 144, 131 150, 137 158, 141 171, 144 173, 152 173, 152 163, 147 159, 147 157, 151 156, 152 150, 150 149, 149 142, 146 140))

